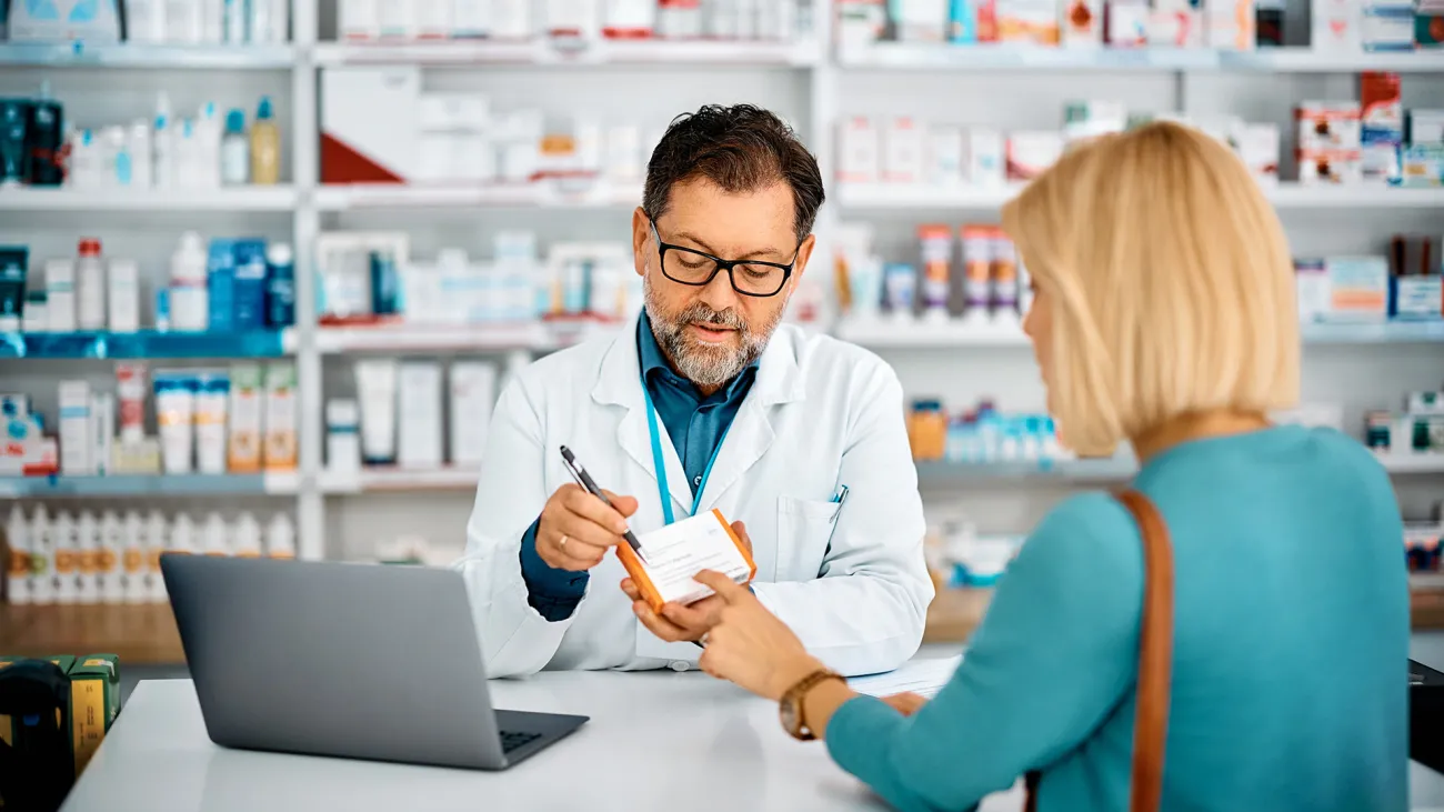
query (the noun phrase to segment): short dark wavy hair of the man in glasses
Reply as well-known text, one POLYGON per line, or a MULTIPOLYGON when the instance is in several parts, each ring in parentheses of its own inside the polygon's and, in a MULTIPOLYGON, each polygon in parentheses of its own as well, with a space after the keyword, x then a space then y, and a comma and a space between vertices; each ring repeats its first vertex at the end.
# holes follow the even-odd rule
POLYGON ((817 159, 781 118, 751 104, 708 104, 673 118, 647 162, 643 210, 653 220, 661 217, 671 186, 696 178, 729 194, 787 183, 799 243, 812 234, 825 199, 817 159))

